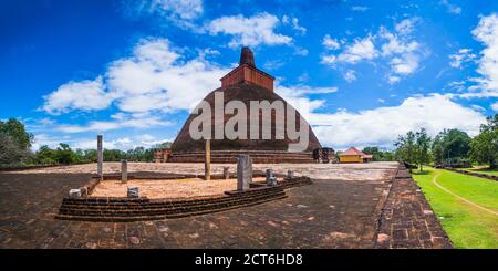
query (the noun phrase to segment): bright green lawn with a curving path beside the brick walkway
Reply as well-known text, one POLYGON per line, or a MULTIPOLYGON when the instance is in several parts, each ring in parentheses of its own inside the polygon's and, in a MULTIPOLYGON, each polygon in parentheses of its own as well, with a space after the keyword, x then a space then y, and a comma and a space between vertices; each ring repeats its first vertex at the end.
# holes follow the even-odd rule
POLYGON ((498 211, 498 181, 434 168, 417 173, 413 178, 456 248, 498 248, 498 216, 446 192, 433 178, 438 175, 440 186, 492 211, 498 211))

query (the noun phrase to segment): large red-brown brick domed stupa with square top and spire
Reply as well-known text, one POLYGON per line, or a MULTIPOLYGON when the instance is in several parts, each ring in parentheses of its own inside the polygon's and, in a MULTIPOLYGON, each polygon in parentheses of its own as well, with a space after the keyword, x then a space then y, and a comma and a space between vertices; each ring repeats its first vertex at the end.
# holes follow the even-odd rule
MULTIPOLYGON (((242 48, 240 54, 239 66, 234 69, 227 75, 220 79, 221 87, 209 93, 204 101, 211 105, 211 123, 215 124, 214 104, 215 93, 224 93, 225 105, 232 100, 241 101, 248 108, 248 125, 247 138, 250 138, 250 101, 282 101, 286 108, 291 106, 281 96, 273 92, 274 77, 256 67, 252 51, 249 48, 242 48)), ((292 107, 293 108, 293 107, 292 107)), ((261 115, 261 112, 260 112, 261 115)), ((309 144, 304 152, 289 152, 289 143, 291 140, 286 133, 283 139, 276 139, 276 122, 274 112, 272 111, 271 122, 271 139, 211 139, 211 161, 212 163, 236 163, 236 157, 239 154, 248 154, 252 157, 253 163, 313 163, 311 152, 320 148, 321 145, 317 139, 311 126, 309 126, 309 144)), ((185 122, 183 128, 178 133, 175 142, 172 145, 173 155, 168 161, 176 163, 200 163, 204 161, 205 140, 195 140, 190 137, 189 126, 190 122, 197 116, 191 114, 185 122)), ((226 123, 232 115, 226 114, 224 122, 226 123)), ((295 126, 299 129, 300 114, 295 114, 295 126)), ((260 116, 261 118, 261 116, 260 116)), ((261 135, 261 119, 259 121, 259 133, 261 135)), ((215 138, 215 127, 211 127, 212 136, 215 138)), ((261 136, 259 138, 262 138, 261 136)))

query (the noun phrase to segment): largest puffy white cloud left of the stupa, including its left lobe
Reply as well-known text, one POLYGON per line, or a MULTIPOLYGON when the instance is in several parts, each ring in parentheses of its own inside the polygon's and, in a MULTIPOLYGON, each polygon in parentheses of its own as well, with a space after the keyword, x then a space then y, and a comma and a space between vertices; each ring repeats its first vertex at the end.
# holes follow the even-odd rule
POLYGON ((219 79, 228 71, 201 56, 183 61, 168 40, 143 40, 131 56, 108 65, 105 82, 98 76, 64 84, 45 96, 42 108, 60 114, 104 110, 114 103, 120 111, 129 113, 190 110, 219 86, 219 79))

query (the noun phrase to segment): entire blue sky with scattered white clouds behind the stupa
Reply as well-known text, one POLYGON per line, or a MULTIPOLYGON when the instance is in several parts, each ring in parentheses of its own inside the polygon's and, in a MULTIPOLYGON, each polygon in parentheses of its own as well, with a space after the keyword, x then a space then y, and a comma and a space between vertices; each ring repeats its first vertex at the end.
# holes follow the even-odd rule
POLYGON ((475 135, 498 112, 497 1, 2 1, 0 118, 33 148, 174 139, 249 45, 323 145, 475 135), (302 106, 308 104, 308 108, 302 106))

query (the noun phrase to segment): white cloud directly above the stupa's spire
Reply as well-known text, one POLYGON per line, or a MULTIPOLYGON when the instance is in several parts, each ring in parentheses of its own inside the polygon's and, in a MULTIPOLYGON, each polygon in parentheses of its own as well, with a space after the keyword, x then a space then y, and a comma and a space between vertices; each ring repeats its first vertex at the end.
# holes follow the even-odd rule
POLYGON ((276 15, 263 12, 249 18, 241 14, 221 17, 211 21, 207 29, 210 34, 232 35, 230 48, 291 44, 292 38, 274 32, 279 23, 276 15))

